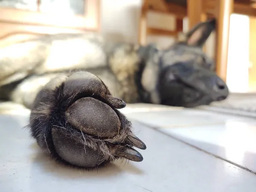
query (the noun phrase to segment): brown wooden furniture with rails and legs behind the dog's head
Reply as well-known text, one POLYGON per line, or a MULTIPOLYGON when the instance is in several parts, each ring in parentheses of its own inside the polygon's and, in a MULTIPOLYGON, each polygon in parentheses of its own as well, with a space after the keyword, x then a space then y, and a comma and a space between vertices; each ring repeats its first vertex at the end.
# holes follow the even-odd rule
POLYGON ((174 15, 177 18, 177 26, 184 17, 188 17, 189 29, 209 17, 215 17, 216 72, 226 81, 230 15, 237 13, 256 16, 256 0, 144 0, 140 18, 140 44, 145 44, 147 35, 177 35, 182 30, 182 26, 176 27, 172 32, 148 28, 146 15, 151 11, 174 15))

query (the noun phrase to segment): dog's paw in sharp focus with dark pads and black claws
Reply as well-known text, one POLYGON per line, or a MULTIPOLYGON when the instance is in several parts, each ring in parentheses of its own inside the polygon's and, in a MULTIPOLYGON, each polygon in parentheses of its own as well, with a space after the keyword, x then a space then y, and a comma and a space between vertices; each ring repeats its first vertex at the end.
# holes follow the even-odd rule
POLYGON ((66 165, 90 169, 120 158, 140 162, 143 157, 133 147, 146 146, 117 110, 125 106, 92 73, 58 77, 38 93, 30 132, 45 152, 66 165))

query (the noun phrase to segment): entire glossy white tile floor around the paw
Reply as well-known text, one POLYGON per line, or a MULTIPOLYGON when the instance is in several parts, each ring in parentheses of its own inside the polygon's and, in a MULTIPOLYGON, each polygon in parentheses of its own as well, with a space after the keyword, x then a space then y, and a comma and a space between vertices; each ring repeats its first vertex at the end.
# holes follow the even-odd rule
POLYGON ((28 113, 0 115, 0 192, 256 191, 256 175, 244 170, 256 172, 256 120, 153 105, 122 111, 147 145, 144 160, 98 172, 57 166, 44 156, 22 129, 28 113))

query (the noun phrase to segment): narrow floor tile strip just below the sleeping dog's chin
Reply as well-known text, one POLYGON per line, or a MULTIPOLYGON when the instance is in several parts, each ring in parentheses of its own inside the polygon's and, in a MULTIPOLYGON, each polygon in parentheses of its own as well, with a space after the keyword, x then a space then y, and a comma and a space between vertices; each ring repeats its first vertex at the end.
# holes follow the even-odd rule
POLYGON ((234 116, 225 113, 216 113, 198 109, 179 109, 166 111, 145 111, 125 113, 130 119, 136 119, 155 127, 177 127, 192 125, 220 124, 232 121, 253 121, 250 117, 234 116))

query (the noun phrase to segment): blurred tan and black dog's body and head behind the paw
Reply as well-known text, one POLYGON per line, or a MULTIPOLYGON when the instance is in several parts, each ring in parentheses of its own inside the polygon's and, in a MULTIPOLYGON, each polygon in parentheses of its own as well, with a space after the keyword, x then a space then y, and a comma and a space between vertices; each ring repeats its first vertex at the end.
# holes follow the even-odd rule
POLYGON ((12 44, 0 49, 0 99, 31 108, 52 78, 85 70, 127 103, 208 105, 228 96, 214 62, 201 49, 214 29, 215 20, 199 23, 184 41, 166 50, 113 43, 91 33, 45 35, 12 44), (170 72, 162 76, 166 70, 170 72))

